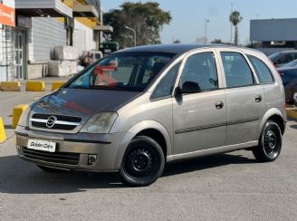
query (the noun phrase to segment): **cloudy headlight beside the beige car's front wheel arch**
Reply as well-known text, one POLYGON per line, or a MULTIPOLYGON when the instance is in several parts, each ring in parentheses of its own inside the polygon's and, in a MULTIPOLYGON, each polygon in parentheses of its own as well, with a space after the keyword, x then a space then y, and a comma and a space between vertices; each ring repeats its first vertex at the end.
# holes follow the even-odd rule
POLYGON ((83 127, 81 128, 82 133, 109 133, 110 128, 118 117, 115 112, 103 112, 98 113, 91 117, 83 127))

